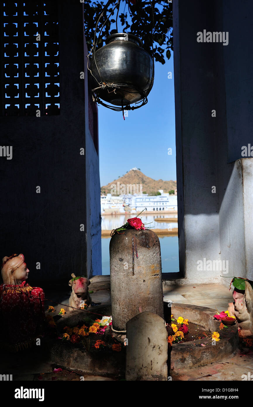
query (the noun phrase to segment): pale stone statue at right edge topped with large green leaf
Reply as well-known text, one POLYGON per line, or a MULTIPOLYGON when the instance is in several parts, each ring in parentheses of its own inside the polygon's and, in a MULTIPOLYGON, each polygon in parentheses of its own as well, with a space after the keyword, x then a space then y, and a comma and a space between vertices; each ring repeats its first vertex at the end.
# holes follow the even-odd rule
POLYGON ((236 317, 239 337, 253 336, 253 282, 234 277, 231 283, 235 288, 234 302, 230 302, 228 306, 229 314, 236 317))

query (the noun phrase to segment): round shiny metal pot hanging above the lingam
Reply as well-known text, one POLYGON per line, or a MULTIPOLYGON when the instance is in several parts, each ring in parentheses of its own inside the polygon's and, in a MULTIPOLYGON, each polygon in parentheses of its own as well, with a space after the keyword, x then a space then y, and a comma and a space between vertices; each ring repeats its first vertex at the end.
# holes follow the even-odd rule
POLYGON ((116 106, 145 99, 153 86, 154 63, 131 33, 109 35, 91 58, 93 93, 116 106))

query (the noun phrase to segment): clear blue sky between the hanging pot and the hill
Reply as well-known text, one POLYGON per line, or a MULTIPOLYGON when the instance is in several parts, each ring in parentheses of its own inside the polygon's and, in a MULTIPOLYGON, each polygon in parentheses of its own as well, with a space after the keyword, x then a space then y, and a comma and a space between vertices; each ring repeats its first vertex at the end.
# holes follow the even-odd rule
POLYGON ((125 120, 122 112, 98 106, 98 129, 101 186, 133 167, 153 179, 176 180, 173 53, 164 65, 155 62, 148 103, 125 120))

